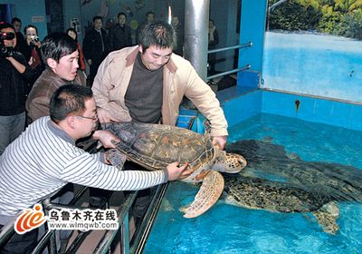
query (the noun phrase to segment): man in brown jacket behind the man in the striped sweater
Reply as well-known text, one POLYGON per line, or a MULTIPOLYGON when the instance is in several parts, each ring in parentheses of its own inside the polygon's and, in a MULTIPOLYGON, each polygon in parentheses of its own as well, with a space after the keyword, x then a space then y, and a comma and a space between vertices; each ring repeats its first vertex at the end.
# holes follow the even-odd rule
POLYGON ((66 83, 86 85, 84 73, 78 70, 78 46, 68 34, 46 36, 42 44, 43 63, 47 68, 33 85, 26 101, 31 122, 49 115, 49 103, 57 88, 66 83))

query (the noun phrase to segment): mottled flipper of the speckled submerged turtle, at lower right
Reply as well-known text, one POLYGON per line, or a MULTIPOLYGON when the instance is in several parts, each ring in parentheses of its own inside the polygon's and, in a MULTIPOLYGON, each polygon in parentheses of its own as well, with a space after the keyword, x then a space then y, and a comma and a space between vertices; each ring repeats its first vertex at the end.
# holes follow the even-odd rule
POLYGON ((319 210, 312 211, 312 214, 317 218, 323 231, 332 235, 335 235, 338 232, 339 226, 337 224, 337 219, 339 217, 339 209, 335 202, 330 201, 323 205, 319 210))

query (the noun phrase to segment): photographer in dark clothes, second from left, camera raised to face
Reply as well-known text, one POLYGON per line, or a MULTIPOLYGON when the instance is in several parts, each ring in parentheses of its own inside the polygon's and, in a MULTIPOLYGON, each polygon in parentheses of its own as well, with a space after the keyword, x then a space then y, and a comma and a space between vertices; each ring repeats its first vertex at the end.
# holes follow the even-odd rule
POLYGON ((45 70, 45 66, 41 57, 42 42, 38 37, 38 28, 33 24, 28 24, 24 27, 24 34, 29 52, 28 56, 25 55, 25 60, 34 71, 33 79, 28 82, 25 89, 25 94, 27 95, 32 90, 35 81, 43 73, 43 70, 45 70))

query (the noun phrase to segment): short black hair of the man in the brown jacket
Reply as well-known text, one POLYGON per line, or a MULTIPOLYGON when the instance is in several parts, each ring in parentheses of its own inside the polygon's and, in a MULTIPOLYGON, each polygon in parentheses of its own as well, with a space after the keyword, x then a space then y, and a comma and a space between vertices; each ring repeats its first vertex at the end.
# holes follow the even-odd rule
POLYGON ((49 58, 59 63, 59 60, 63 56, 72 54, 78 50, 78 44, 68 34, 53 33, 44 38, 41 50, 43 63, 47 63, 47 59, 49 58))

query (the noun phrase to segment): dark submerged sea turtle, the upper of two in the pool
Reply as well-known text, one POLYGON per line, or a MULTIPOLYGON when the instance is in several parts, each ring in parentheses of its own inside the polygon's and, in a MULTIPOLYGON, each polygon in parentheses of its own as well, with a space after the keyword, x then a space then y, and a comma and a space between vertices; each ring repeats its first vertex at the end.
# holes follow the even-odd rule
POLYGON ((248 167, 241 173, 271 181, 287 181, 329 195, 337 201, 362 202, 362 171, 348 165, 304 161, 279 144, 258 140, 234 142, 228 151, 243 154, 248 167))

